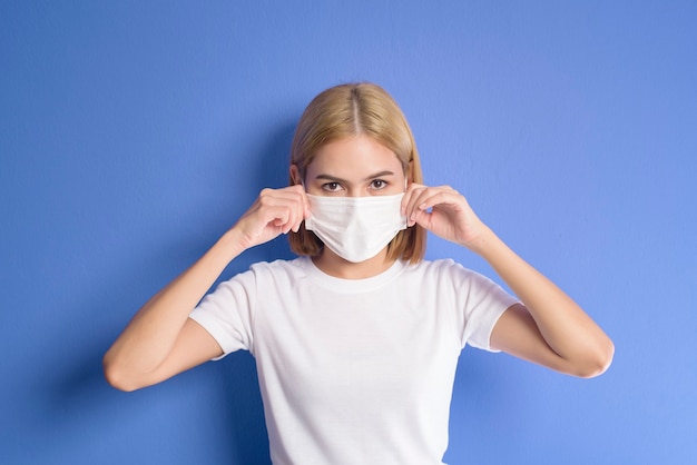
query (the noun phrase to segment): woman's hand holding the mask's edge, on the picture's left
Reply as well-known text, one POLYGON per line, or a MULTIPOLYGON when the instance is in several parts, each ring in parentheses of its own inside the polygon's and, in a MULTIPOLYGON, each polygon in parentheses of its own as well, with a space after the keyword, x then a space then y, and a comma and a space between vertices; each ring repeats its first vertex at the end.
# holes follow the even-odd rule
POLYGON ((281 234, 297 233, 310 217, 310 201, 302 185, 264 189, 233 226, 244 249, 267 243, 281 234))

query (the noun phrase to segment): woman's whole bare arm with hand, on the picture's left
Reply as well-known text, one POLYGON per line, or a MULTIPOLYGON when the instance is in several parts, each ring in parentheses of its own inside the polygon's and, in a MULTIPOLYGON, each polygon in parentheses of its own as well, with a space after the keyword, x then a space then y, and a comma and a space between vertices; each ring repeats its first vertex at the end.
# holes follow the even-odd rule
POLYGON ((310 207, 301 187, 264 189, 254 205, 189 269, 143 306, 104 357, 121 390, 159 383, 223 354, 188 316, 225 267, 245 249, 297 230, 310 207))

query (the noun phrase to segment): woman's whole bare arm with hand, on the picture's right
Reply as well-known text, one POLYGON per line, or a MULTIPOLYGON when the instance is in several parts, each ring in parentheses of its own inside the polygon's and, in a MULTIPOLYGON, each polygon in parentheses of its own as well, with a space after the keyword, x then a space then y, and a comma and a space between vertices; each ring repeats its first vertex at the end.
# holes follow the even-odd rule
POLYGON ((513 253, 454 189, 411 185, 402 202, 410 225, 460 244, 484 258, 523 305, 497 323, 491 346, 579 377, 603 373, 615 346, 559 287, 513 253))

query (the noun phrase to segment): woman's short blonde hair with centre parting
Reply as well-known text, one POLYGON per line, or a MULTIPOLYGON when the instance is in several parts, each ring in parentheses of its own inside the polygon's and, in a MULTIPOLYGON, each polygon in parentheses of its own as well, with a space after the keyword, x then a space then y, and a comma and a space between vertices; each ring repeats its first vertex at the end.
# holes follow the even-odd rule
MULTIPOLYGON (((406 118, 394 99, 380 86, 370 82, 347 83, 326 89, 315 97, 301 117, 293 145, 291 164, 301 178, 317 150, 338 139, 366 135, 392 150, 404 175, 413 182, 423 182, 419 152, 406 118)), ((297 180, 291 178, 291 185, 297 180)), ((324 244, 303 224, 288 235, 291 249, 297 255, 316 256, 324 244)), ((387 246, 387 258, 412 264, 423 259, 426 231, 419 225, 400 231, 387 246)))

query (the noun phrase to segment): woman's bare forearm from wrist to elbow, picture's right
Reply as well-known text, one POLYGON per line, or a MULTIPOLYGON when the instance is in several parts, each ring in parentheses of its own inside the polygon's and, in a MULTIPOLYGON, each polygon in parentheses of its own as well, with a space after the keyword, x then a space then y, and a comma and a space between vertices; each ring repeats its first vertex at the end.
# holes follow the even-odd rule
POLYGON ((513 253, 490 229, 475 249, 523 303, 547 345, 571 366, 607 365, 612 342, 551 280, 513 253))

